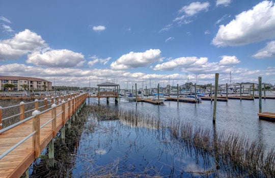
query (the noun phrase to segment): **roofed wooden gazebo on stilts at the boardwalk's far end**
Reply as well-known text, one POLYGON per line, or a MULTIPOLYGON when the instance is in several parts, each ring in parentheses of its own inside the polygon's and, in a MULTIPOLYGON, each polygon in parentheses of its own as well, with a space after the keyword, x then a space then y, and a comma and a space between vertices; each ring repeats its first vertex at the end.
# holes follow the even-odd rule
POLYGON ((109 103, 109 98, 115 98, 115 102, 118 103, 119 84, 112 83, 112 82, 104 82, 104 83, 97 84, 97 86, 98 86, 98 93, 96 96, 98 98, 98 103, 100 103, 100 98, 106 98, 107 103, 109 103), (100 92, 100 87, 114 87, 114 89, 111 88, 111 91, 100 92))

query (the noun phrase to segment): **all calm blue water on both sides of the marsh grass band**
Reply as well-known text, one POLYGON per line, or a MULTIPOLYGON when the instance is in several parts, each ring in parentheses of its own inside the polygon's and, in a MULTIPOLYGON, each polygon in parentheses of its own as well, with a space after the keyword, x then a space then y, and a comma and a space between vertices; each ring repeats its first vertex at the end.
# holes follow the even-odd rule
MULTIPOLYGON (((101 99, 102 105, 106 105, 104 102, 101 99)), ((92 103, 97 104, 97 100, 90 99, 90 104, 92 103)), ((110 99, 109 105, 115 105, 114 100, 110 99)), ((134 102, 121 99, 116 106, 147 113, 167 122, 182 121, 193 126, 213 128, 213 103, 210 101, 199 104, 171 101, 164 102, 164 105, 140 102, 136 106, 134 102)), ((275 123, 259 120, 258 107, 258 99, 217 102, 217 131, 233 132, 251 140, 257 139, 270 149, 275 146, 275 123)), ((275 112, 275 100, 262 100, 262 112, 275 112)), ((89 121, 88 128, 89 123, 96 122, 96 119, 91 117, 89 121)), ((186 148, 168 137, 169 130, 160 133, 152 128, 130 127, 120 121, 96 123, 95 127, 82 133, 73 170, 75 177, 108 171, 147 172, 173 177, 199 176, 190 172, 209 170, 214 163, 211 158, 206 163, 204 159, 187 152, 186 148)))

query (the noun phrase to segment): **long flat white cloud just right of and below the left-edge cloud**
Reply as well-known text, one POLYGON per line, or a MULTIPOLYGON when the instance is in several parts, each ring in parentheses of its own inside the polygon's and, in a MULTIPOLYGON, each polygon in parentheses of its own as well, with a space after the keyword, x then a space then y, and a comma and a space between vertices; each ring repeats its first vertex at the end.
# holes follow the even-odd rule
POLYGON ((84 55, 67 49, 33 52, 28 55, 27 63, 47 67, 81 67, 85 63, 84 55))

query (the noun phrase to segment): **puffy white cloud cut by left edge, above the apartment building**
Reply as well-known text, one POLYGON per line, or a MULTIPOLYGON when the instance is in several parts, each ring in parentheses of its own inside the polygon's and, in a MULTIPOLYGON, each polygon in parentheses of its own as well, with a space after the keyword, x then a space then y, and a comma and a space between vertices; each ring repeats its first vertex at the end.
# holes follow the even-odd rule
POLYGON ((46 47, 47 44, 34 32, 25 29, 11 39, 0 41, 0 61, 16 60, 18 57, 46 47))

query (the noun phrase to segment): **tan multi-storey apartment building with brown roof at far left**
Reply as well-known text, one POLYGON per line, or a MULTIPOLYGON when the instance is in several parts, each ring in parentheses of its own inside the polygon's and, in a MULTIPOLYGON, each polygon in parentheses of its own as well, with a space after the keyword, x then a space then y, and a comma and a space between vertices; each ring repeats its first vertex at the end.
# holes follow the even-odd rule
POLYGON ((3 76, 0 75, 0 91, 51 91, 51 82, 42 78, 21 77, 21 76, 3 76), (13 88, 4 88, 6 83, 13 84, 13 88), (25 88, 25 86, 27 86, 25 88))

